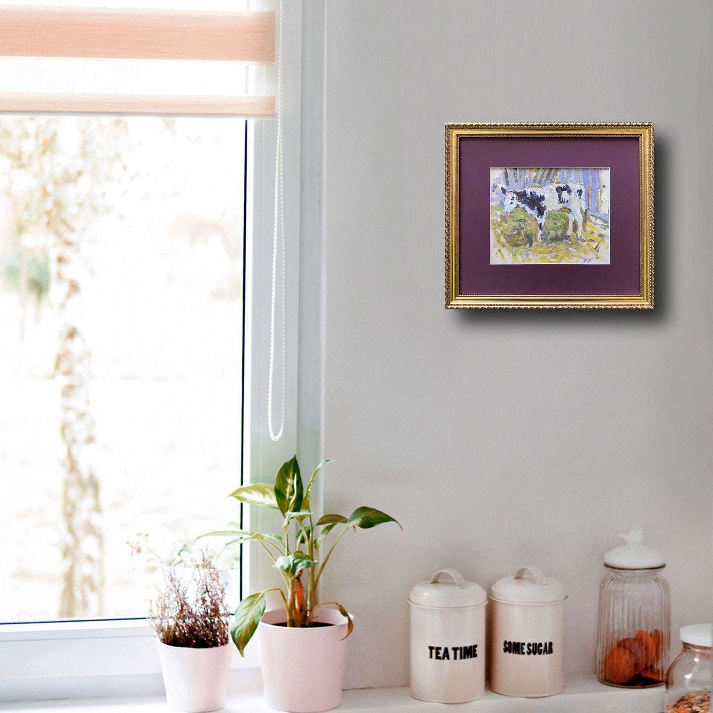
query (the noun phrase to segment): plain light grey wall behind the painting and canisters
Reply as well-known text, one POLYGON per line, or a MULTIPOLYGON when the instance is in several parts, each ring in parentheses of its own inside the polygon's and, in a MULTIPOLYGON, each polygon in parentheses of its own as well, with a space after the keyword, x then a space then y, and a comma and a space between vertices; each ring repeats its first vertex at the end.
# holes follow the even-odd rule
POLYGON ((563 580, 566 666, 593 671, 632 523, 676 649, 711 603, 709 1, 329 0, 324 26, 324 500, 404 526, 328 574, 347 685, 406 684, 406 597, 443 566, 563 580), (443 125, 467 121, 655 122, 654 312, 443 309, 443 125))

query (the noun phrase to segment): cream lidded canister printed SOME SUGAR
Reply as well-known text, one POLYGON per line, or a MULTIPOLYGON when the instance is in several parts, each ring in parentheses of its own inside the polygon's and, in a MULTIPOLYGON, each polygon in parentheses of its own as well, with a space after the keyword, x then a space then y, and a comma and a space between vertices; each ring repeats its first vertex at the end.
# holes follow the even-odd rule
POLYGON ((564 690, 566 598, 562 583, 532 565, 493 585, 493 691, 538 698, 564 690))

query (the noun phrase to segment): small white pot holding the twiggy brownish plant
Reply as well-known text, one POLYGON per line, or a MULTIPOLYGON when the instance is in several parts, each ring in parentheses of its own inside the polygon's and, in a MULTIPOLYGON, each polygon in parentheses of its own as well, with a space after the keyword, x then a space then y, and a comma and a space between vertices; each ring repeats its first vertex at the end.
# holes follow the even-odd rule
POLYGON ((189 649, 158 643, 168 706, 177 711, 215 711, 225 704, 232 643, 189 649))

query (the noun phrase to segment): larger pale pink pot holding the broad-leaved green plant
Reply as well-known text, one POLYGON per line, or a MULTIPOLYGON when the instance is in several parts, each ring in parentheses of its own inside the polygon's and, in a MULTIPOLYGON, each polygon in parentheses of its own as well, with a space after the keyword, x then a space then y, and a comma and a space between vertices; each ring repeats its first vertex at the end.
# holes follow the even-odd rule
POLYGON ((284 610, 272 610, 257 625, 265 703, 290 713, 336 708, 347 665, 347 620, 328 609, 318 609, 314 621, 331 626, 278 626, 285 619, 284 610))

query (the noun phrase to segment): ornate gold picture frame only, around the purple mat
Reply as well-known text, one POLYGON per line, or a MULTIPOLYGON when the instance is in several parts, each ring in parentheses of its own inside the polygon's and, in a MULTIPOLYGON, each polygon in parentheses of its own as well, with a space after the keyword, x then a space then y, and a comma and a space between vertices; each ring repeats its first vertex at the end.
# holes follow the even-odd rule
POLYGON ((653 123, 466 123, 446 124, 446 309, 653 309, 654 125, 653 123), (460 294, 458 272, 459 142, 461 136, 639 137, 640 294, 460 294))

